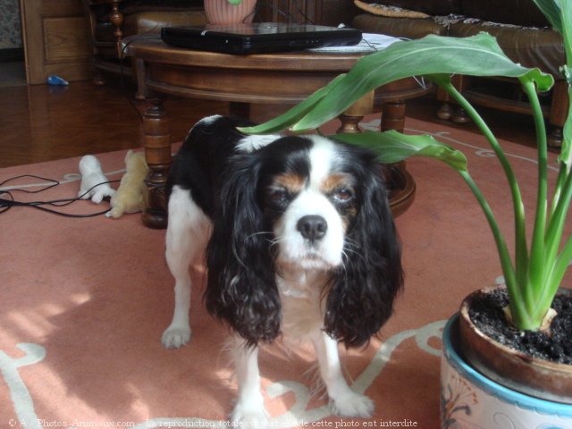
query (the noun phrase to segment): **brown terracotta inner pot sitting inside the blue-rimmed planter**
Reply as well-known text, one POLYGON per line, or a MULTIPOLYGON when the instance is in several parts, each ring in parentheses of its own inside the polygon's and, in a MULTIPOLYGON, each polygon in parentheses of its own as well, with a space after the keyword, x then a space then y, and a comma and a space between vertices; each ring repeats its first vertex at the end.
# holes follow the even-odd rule
MULTIPOLYGON (((494 341, 473 324, 468 310, 477 290, 463 301, 460 309, 460 348, 479 372, 509 389, 544 400, 572 404, 572 366, 530 357, 494 341)), ((564 290, 562 290, 564 292, 564 290)))

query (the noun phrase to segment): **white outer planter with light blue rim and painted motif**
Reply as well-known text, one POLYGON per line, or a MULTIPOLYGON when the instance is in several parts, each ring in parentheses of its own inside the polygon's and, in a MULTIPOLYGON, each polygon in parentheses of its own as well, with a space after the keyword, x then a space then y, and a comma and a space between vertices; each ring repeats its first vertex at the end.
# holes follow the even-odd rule
POLYGON ((459 315, 442 334, 441 428, 572 428, 572 407, 513 391, 467 363, 459 345, 459 315))

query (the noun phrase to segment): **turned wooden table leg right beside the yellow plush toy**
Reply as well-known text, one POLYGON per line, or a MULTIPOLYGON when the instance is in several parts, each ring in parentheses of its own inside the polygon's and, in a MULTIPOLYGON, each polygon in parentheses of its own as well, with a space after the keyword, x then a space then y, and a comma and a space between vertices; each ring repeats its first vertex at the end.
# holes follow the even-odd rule
POLYGON ((149 174, 145 181, 148 190, 147 208, 143 223, 151 228, 166 228, 167 211, 164 187, 171 164, 171 133, 169 117, 163 108, 163 100, 151 98, 143 115, 145 159, 149 174))

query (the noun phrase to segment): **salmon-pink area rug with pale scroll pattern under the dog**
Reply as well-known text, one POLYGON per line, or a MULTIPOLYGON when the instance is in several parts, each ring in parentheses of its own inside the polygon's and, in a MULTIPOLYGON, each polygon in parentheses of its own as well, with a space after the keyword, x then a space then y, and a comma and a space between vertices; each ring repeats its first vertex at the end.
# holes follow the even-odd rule
MULTIPOLYGON (((364 127, 379 123, 370 119, 364 127)), ((408 119, 408 133, 421 131, 467 154, 510 235, 507 187, 485 140, 408 119)), ((502 145, 531 206, 534 149, 502 145)), ((110 178, 121 177, 123 156, 98 155, 110 178)), ((78 162, 5 168, 0 182, 22 173, 42 175, 62 184, 14 198, 74 197, 78 162)), ((272 346, 260 356, 272 427, 439 427, 442 326, 467 293, 496 282, 501 268, 484 215, 457 173, 421 158, 408 162, 408 170, 416 179, 416 201, 397 219, 405 290, 381 341, 341 350, 353 389, 374 400, 374 416, 332 416, 327 400, 312 391, 312 350, 286 356, 272 346)), ((553 180, 556 172, 550 174, 553 180)), ((65 210, 87 214, 102 208, 80 202, 65 210)), ((206 315, 202 290, 195 290, 192 302, 189 345, 167 350, 160 343, 173 305, 164 231, 147 229, 138 214, 70 219, 24 207, 0 214, 0 223, 0 427, 228 425, 236 386, 221 349, 227 332, 206 315)), ((199 280, 201 275, 198 270, 199 280)))

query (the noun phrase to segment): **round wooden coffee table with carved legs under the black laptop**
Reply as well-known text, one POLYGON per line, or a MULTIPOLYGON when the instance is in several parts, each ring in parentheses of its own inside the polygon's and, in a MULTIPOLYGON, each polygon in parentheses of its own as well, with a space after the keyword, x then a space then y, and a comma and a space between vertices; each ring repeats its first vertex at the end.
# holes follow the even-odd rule
MULTIPOLYGON (((231 114, 248 117, 251 104, 297 104, 349 71, 363 54, 294 53, 226 55, 167 46, 156 38, 125 38, 126 55, 135 61, 139 95, 148 100, 144 146, 150 173, 149 204, 143 222, 166 225, 164 184, 171 164, 171 136, 164 96, 227 101, 231 114)), ((365 97, 341 115, 341 131, 359 132, 357 123, 382 105, 383 130, 403 130, 405 100, 427 93, 416 80, 399 80, 365 97), (374 103, 375 102, 375 103, 374 103)), ((388 170, 391 208, 403 213, 415 197, 415 181, 399 164, 388 170)))

